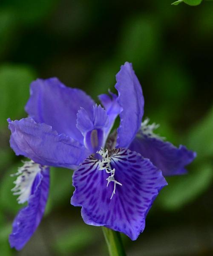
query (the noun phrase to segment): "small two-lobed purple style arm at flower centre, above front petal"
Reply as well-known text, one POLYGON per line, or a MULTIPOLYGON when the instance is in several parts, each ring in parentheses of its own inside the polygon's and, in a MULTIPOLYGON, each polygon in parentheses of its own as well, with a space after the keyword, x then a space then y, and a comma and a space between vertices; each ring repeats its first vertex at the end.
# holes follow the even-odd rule
POLYGON ((84 145, 91 153, 95 153, 104 146, 106 129, 109 123, 107 112, 101 105, 92 107, 93 113, 81 108, 77 114, 77 128, 84 137, 84 145))

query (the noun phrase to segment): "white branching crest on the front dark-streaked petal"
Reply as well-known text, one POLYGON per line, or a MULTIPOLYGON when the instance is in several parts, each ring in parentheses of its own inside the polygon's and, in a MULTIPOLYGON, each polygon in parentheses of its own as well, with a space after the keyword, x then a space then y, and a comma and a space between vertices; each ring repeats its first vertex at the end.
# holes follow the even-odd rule
POLYGON ((112 181, 114 182, 114 189, 111 195, 111 198, 113 197, 113 195, 115 195, 115 189, 116 189, 116 184, 121 185, 122 184, 120 182, 118 182, 117 180, 115 180, 115 168, 111 168, 110 166, 110 162, 111 162, 111 158, 109 157, 108 154, 108 149, 106 149, 106 151, 104 151, 103 148, 101 148, 101 150, 97 151, 96 153, 100 154, 102 156, 102 159, 99 160, 99 170, 105 170, 107 173, 110 173, 111 175, 106 179, 107 180, 107 187, 109 185, 109 183, 112 181))

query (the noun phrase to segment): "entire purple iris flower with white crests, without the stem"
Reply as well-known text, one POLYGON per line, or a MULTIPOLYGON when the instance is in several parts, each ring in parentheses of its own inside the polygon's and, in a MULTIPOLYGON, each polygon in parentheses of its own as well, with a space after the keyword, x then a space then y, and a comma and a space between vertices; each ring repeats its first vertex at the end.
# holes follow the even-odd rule
POLYGON ((56 78, 37 79, 26 105, 29 117, 8 120, 11 147, 31 160, 19 169, 14 188, 19 202, 28 201, 28 206, 14 219, 12 247, 20 250, 41 220, 48 166, 75 170, 71 204, 82 207, 86 224, 109 227, 135 240, 154 199, 167 185, 163 175, 185 173, 184 167, 196 157, 184 146, 164 142, 147 119, 141 123, 144 97, 132 64, 121 66, 116 81, 118 96, 99 96, 103 108, 56 78), (118 115, 120 125, 110 133, 118 115))

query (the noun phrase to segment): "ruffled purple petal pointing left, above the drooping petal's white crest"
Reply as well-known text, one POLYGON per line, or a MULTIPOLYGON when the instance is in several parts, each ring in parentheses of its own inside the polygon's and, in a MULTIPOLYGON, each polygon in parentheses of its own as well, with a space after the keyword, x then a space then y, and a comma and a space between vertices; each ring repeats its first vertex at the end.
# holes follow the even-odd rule
POLYGON ((50 125, 36 123, 32 118, 8 121, 12 149, 36 163, 74 168, 89 155, 83 145, 53 131, 50 125))

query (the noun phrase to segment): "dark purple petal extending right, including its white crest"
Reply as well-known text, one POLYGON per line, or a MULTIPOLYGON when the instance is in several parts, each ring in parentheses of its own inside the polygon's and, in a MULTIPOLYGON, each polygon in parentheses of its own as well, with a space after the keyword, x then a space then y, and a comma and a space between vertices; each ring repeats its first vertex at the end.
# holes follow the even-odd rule
POLYGON ((157 127, 155 124, 147 125, 147 120, 145 120, 141 125, 141 130, 132 141, 130 150, 149 158, 155 166, 161 169, 164 176, 186 173, 187 170, 184 167, 194 160, 196 153, 187 150, 183 145, 177 148, 172 143, 165 142, 164 138, 153 133, 153 129, 157 127))

